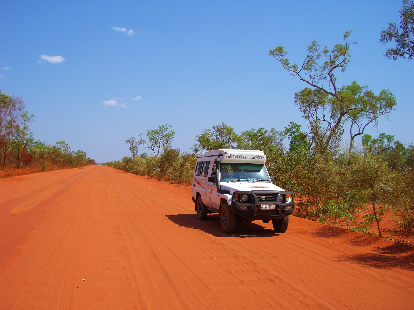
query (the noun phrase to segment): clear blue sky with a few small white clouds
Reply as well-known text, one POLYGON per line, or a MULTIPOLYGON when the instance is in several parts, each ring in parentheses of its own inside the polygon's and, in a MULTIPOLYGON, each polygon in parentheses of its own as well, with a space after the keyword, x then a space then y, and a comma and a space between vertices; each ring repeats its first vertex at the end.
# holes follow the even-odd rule
POLYGON ((36 139, 65 140, 97 162, 128 155, 125 140, 159 124, 175 129, 173 147, 190 151, 195 135, 221 122, 236 132, 282 130, 290 121, 306 129, 293 103, 306 85, 269 50, 283 45, 291 62, 301 62, 311 41, 332 48, 353 30, 359 44, 347 71, 337 74, 338 84, 355 79, 375 93, 390 89, 397 109, 366 133, 393 134, 407 144, 414 142, 414 62, 386 59, 379 42, 381 30, 399 21, 401 6, 3 0, 0 89, 21 96, 36 116, 36 139))

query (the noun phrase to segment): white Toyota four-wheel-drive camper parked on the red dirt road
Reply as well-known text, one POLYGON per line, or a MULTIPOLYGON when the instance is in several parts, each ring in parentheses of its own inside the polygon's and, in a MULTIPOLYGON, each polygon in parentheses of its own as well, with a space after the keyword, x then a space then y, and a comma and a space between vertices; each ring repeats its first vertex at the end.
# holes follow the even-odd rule
POLYGON ((273 184, 266 154, 258 150, 212 150, 198 155, 191 193, 199 219, 220 214, 221 230, 261 220, 285 232, 294 211, 293 193, 273 184))

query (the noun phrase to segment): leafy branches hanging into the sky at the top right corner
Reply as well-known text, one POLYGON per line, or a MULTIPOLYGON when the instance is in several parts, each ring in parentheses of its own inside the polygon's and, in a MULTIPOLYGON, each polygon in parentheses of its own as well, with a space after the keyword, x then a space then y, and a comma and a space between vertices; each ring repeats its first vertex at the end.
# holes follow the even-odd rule
POLYGON ((414 58, 414 1, 402 1, 402 10, 399 10, 400 26, 395 23, 388 24, 387 29, 383 29, 380 42, 383 44, 394 41, 395 48, 388 48, 385 57, 397 60, 398 57, 414 58))

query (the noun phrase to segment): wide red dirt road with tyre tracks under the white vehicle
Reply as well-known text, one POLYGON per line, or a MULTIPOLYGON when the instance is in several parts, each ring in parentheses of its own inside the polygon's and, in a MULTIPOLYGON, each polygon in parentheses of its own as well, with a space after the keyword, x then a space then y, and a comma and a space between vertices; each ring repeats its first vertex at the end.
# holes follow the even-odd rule
POLYGON ((0 180, 0 288, 0 309, 413 309, 414 252, 296 217, 227 236, 188 187, 89 166, 0 180))

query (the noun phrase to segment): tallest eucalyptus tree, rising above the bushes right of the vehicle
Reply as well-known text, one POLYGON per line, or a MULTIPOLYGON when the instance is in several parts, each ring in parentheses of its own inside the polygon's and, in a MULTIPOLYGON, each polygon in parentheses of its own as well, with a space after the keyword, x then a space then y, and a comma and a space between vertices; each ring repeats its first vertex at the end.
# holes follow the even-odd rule
POLYGON ((284 69, 311 86, 295 93, 294 102, 308 121, 309 148, 316 153, 337 150, 347 121, 351 122, 351 148, 354 138, 363 134, 368 124, 376 124, 378 117, 388 114, 396 104, 388 90, 375 96, 355 81, 349 86, 337 85, 335 74, 346 71, 351 57, 349 50, 356 44, 349 41, 350 34, 351 31, 345 31, 344 44, 336 44, 332 50, 325 45, 321 48, 318 42, 312 41, 300 66, 290 64, 283 46, 269 51, 284 69), (353 133, 354 128, 358 128, 356 133, 353 133))

